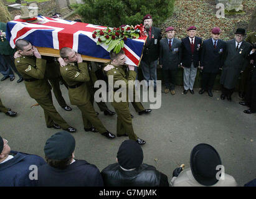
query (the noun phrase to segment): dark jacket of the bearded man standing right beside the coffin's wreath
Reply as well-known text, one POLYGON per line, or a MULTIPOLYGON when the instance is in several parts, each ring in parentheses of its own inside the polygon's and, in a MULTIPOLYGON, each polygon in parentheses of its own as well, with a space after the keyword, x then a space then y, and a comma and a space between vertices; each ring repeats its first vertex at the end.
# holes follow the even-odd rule
POLYGON ((157 27, 153 27, 151 29, 151 39, 146 40, 143 56, 143 62, 150 63, 155 60, 158 60, 159 57, 159 42, 162 39, 161 30, 157 27))

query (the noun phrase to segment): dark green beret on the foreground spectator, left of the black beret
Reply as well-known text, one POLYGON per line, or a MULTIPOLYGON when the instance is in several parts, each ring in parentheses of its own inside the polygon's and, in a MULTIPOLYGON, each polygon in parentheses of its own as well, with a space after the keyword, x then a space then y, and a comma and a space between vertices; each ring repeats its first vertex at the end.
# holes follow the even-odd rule
POLYGON ((53 160, 64 160, 72 156, 75 139, 67 131, 57 132, 47 139, 44 146, 45 156, 53 160))

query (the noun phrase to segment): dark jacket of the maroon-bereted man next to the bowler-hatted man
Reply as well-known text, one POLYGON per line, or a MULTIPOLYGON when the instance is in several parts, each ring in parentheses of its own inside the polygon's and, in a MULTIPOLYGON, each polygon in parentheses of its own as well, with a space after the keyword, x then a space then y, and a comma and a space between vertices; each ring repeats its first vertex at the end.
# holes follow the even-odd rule
POLYGON ((201 52, 201 67, 203 72, 218 73, 219 68, 223 67, 225 54, 225 42, 221 39, 218 40, 216 49, 212 38, 204 40, 201 52))

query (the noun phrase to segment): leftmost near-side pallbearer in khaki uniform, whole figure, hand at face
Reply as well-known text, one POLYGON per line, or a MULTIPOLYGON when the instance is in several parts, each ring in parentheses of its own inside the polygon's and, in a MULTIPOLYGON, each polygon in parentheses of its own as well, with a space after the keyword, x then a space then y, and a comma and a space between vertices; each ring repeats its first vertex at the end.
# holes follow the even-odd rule
POLYGON ((24 77, 27 92, 44 109, 46 126, 55 129, 61 127, 69 132, 77 131, 66 123, 52 103, 51 87, 49 82, 44 79, 46 60, 41 58, 36 47, 27 40, 17 40, 16 48, 21 57, 16 58, 15 65, 24 77))

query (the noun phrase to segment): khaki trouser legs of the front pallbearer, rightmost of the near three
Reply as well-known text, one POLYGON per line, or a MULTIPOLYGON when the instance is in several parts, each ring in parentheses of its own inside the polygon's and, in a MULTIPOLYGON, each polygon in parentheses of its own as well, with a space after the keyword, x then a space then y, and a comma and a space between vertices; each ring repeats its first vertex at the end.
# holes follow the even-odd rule
POLYGON ((138 137, 133 131, 133 124, 131 120, 131 114, 129 111, 128 103, 112 103, 115 108, 117 114, 117 122, 116 122, 116 134, 123 135, 128 134, 129 139, 133 139, 136 141, 138 137), (117 106, 116 106, 117 105, 117 106))

